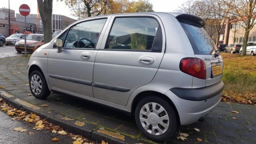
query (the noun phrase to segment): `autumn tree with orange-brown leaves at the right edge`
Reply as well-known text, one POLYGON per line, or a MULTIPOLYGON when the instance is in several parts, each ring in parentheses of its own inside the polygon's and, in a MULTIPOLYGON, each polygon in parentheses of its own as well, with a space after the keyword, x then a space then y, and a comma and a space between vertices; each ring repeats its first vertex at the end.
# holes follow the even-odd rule
POLYGON ((234 0, 231 8, 245 31, 242 48, 242 55, 245 56, 249 33, 256 24, 256 0, 234 0))

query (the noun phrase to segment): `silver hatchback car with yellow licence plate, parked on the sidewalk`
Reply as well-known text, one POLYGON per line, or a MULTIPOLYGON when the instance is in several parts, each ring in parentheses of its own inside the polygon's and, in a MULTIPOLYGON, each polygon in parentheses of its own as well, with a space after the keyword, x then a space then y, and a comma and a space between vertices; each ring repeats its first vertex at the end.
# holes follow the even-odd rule
POLYGON ((204 25, 197 16, 158 12, 79 20, 32 54, 31 92, 129 112, 149 139, 170 139, 221 99, 223 61, 204 25))

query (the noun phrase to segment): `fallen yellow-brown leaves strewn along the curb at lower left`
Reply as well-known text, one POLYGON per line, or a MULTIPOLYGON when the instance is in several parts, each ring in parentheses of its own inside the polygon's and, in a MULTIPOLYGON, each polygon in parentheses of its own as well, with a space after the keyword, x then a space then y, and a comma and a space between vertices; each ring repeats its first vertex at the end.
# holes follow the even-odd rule
MULTIPOLYGON (((27 121, 28 123, 33 123, 35 124, 34 128, 32 129, 36 129, 38 131, 41 130, 49 130, 53 133, 58 133, 60 135, 68 135, 74 139, 75 141, 72 142, 73 144, 96 144, 94 141, 92 140, 88 140, 87 138, 81 136, 81 135, 74 135, 72 133, 68 133, 66 131, 63 130, 63 128, 61 128, 58 125, 54 125, 52 123, 49 123, 47 120, 42 120, 40 118, 40 116, 37 116, 35 113, 30 113, 28 114, 27 112, 23 111, 23 110, 18 110, 16 108, 14 108, 12 105, 6 104, 4 102, 4 100, 0 97, 0 108, 1 111, 7 113, 9 116, 12 116, 11 120, 23 120, 23 121, 27 121)), ((64 120, 72 120, 70 118, 64 118, 64 120)), ((80 123, 79 123, 80 124, 80 123)), ((82 124, 82 122, 81 122, 82 124)), ((17 132, 28 132, 27 129, 24 129, 22 127, 19 128, 14 128, 14 131, 17 132)), ((28 132, 29 135, 34 134, 34 132, 28 132)), ((51 139, 52 141, 59 141, 59 138, 53 137, 51 139)), ((104 143, 107 144, 107 143, 104 143)))

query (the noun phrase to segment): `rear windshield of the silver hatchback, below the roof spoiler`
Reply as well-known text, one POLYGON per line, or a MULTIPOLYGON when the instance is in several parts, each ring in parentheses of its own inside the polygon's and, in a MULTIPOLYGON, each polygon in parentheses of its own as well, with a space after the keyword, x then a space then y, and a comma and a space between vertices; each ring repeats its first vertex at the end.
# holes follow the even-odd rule
POLYGON ((186 32, 195 54, 212 55, 218 50, 204 28, 200 28, 190 20, 182 20, 180 24, 186 32))

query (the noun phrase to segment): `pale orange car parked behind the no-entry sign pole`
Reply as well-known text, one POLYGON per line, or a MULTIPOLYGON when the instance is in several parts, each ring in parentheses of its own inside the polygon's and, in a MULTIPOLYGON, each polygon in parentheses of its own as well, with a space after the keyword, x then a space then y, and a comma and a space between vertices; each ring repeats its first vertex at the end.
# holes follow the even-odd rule
MULTIPOLYGON (((43 34, 29 34, 26 37, 27 40, 27 52, 34 52, 37 48, 44 45, 43 34)), ((16 42, 15 49, 17 52, 25 52, 25 40, 16 42)))

